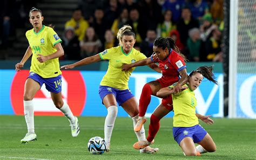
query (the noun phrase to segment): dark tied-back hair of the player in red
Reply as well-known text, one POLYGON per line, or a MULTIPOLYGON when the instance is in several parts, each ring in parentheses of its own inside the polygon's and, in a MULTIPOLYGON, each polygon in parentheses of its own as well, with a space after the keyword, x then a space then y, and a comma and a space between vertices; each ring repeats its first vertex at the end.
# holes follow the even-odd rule
POLYGON ((186 62, 186 57, 180 52, 179 48, 176 46, 174 40, 171 37, 159 37, 154 41, 154 46, 158 48, 162 48, 163 50, 167 47, 169 52, 171 49, 173 49, 175 52, 177 52, 181 57, 183 57, 183 60, 186 62))

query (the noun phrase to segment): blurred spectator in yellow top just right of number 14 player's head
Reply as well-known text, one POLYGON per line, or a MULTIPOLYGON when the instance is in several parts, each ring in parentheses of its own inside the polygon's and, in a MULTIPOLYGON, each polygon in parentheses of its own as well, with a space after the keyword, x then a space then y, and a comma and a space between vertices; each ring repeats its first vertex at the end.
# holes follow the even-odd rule
POLYGON ((84 38, 85 31, 89 27, 89 24, 86 20, 84 20, 82 11, 80 9, 73 11, 73 17, 66 22, 65 28, 69 26, 75 28, 75 33, 79 41, 84 38))

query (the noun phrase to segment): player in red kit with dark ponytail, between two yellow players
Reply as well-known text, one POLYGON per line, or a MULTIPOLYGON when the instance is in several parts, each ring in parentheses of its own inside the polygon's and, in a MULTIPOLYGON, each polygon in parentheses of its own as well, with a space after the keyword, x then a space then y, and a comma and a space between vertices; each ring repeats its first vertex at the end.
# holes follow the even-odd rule
MULTIPOLYGON (((146 83, 143 87, 142 94, 139 99, 139 119, 134 127, 134 131, 136 132, 139 132, 143 123, 146 122, 145 114, 147 106, 150 104, 151 95, 156 96, 156 93, 161 88, 165 88, 166 86, 172 85, 176 82, 178 83, 174 86, 173 92, 180 92, 182 90, 181 86, 188 81, 185 56, 180 53, 173 39, 170 37, 156 39, 154 41, 153 50, 154 54, 151 57, 135 63, 125 64, 122 68, 122 70, 127 71, 132 67, 159 63, 159 67, 162 71, 161 78, 146 83)), ((150 118, 149 135, 147 136, 147 142, 149 144, 153 143, 153 139, 159 130, 160 119, 172 111, 172 109, 172 98, 164 97, 161 104, 152 113, 150 118)))

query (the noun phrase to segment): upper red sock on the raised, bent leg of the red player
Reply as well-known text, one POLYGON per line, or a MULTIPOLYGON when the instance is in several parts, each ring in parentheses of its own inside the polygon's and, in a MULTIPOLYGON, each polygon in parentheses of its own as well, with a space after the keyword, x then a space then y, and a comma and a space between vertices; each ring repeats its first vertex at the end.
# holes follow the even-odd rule
POLYGON ((151 94, 152 91, 150 85, 145 84, 139 99, 139 117, 143 117, 146 114, 147 106, 150 104, 151 94))

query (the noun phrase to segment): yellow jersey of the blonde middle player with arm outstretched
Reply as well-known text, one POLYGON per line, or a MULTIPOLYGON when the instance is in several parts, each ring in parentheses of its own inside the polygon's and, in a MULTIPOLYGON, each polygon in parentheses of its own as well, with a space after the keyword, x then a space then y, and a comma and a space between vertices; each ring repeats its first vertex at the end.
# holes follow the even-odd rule
POLYGON ((109 67, 100 85, 111 86, 118 90, 129 89, 128 81, 132 71, 135 69, 133 67, 129 71, 122 71, 123 64, 131 64, 147 58, 134 48, 126 54, 121 46, 106 49, 104 52, 99 53, 99 56, 102 60, 109 60, 109 67))

